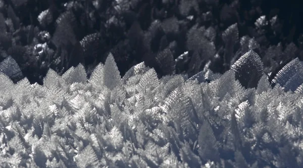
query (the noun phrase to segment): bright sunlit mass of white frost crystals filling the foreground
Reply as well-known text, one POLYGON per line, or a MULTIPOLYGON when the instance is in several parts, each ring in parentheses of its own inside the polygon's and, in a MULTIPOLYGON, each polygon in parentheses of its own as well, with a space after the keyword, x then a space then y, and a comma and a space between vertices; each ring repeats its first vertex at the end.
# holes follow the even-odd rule
POLYGON ((271 81, 249 51, 223 75, 121 78, 114 57, 44 85, 0 75, 0 167, 303 167, 303 64, 271 81))

